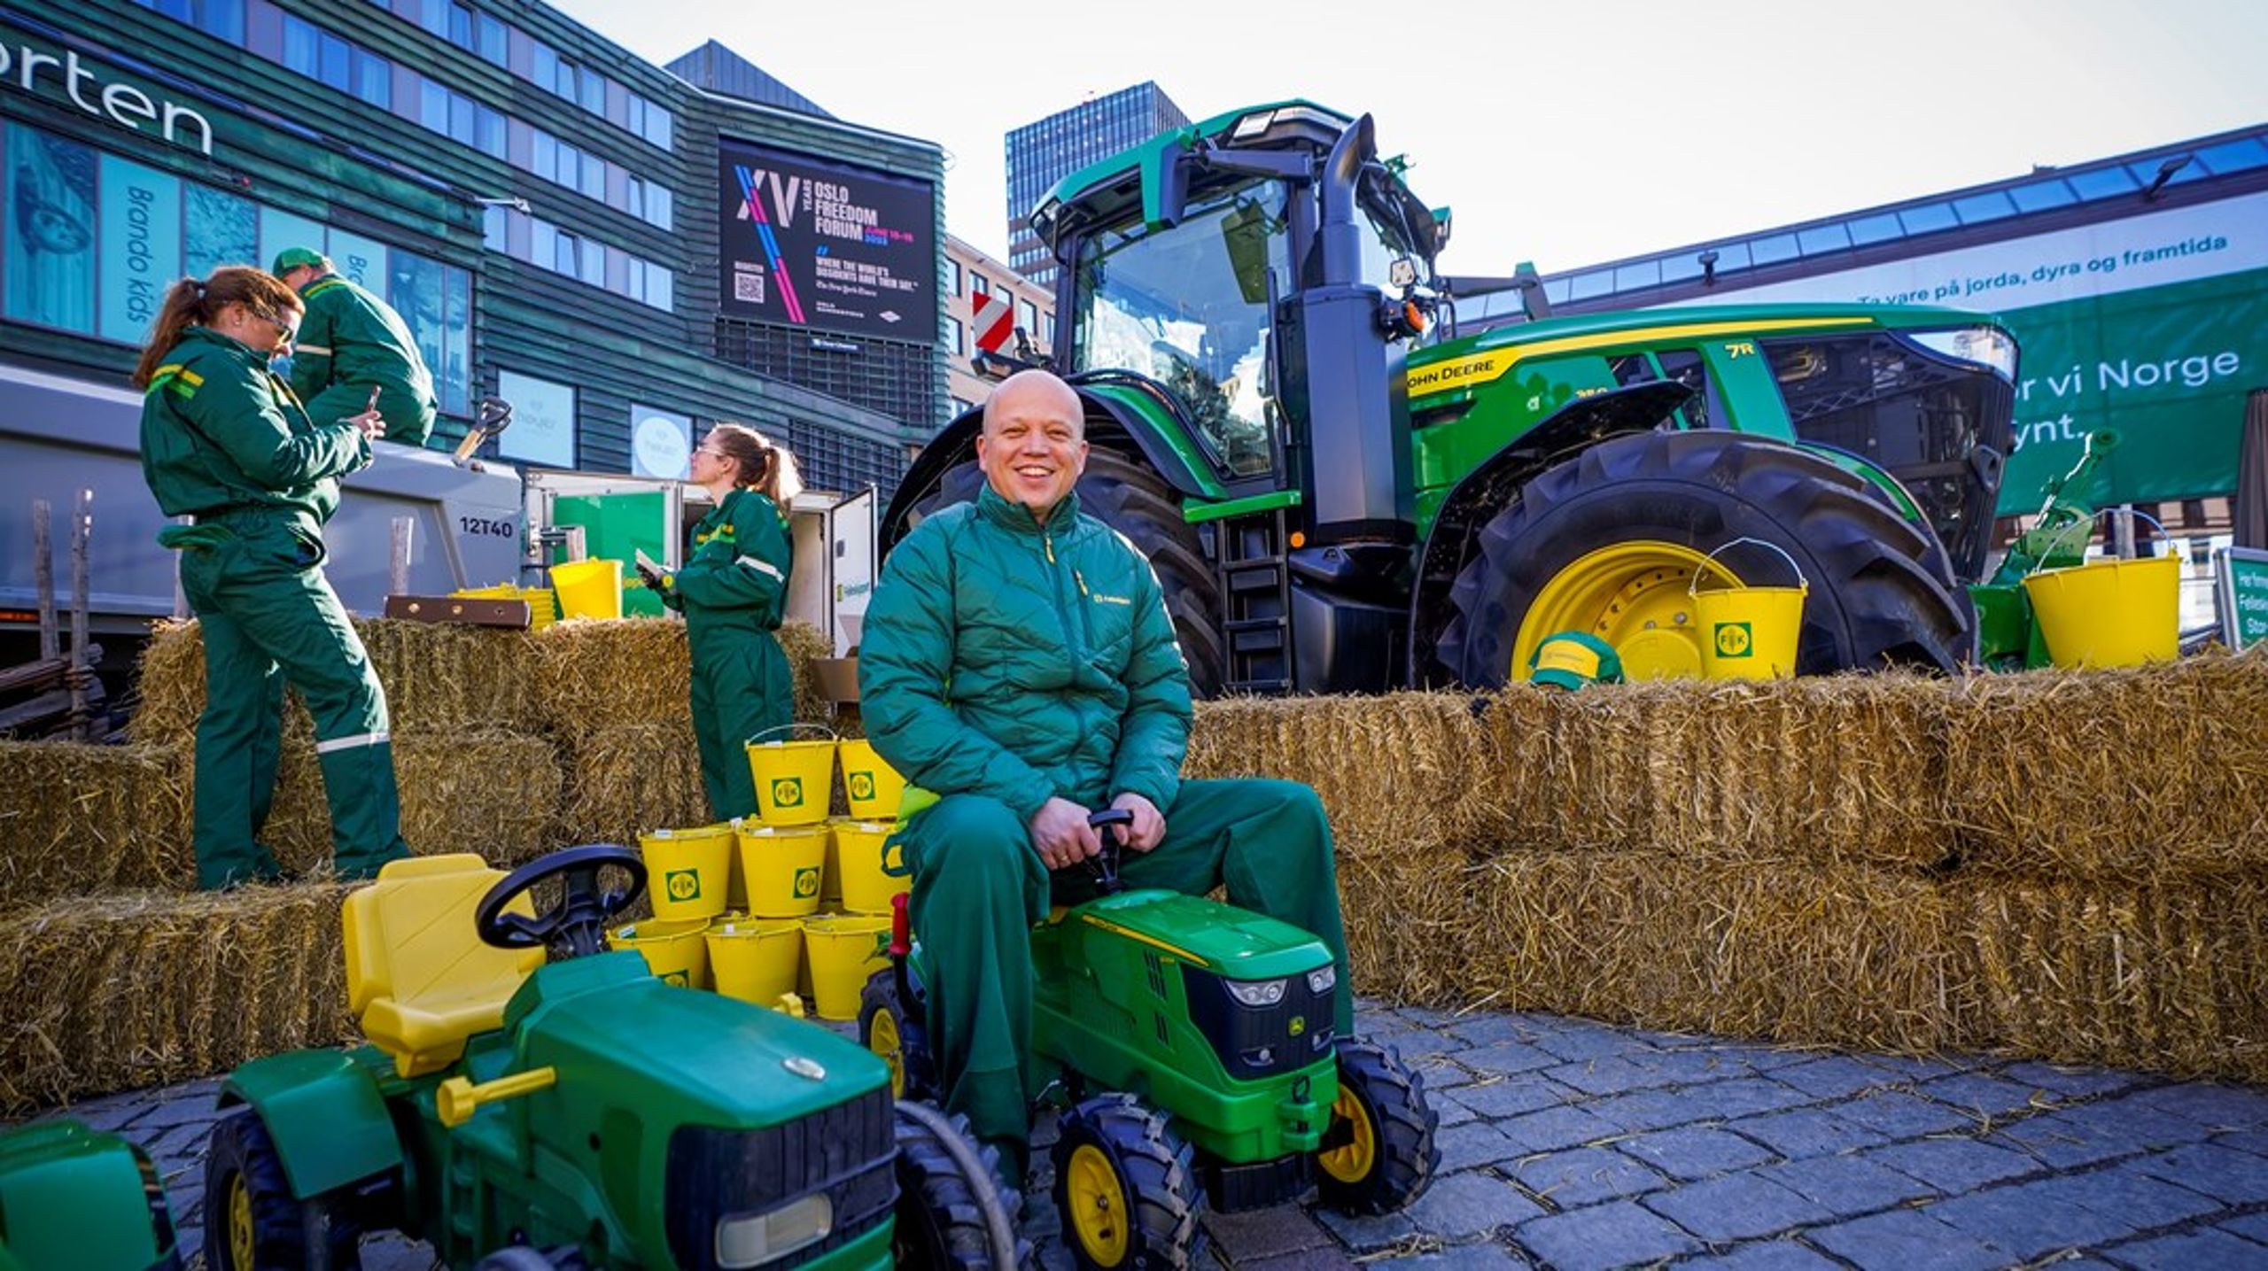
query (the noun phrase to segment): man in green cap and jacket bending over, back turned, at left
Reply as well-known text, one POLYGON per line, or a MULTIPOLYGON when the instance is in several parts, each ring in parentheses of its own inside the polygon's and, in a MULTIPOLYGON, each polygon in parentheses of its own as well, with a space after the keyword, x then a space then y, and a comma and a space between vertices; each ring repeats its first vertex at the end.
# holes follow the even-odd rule
POLYGON ((422 446, 433 435, 433 374, 401 315, 354 281, 331 272, 331 258, 308 247, 277 256, 274 276, 306 301, 306 322, 290 358, 290 387, 318 424, 370 410, 379 392, 386 440, 422 446))

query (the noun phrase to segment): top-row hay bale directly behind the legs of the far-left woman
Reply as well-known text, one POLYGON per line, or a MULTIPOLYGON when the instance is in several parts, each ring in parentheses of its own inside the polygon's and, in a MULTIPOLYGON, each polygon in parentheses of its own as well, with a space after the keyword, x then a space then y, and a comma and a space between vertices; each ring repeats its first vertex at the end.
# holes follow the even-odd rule
MULTIPOLYGON (((526 632, 356 619, 370 666, 386 686, 386 714, 397 734, 506 730, 533 732, 535 650, 526 632)), ((136 741, 177 745, 195 736, 204 711, 204 641, 197 623, 159 623, 143 650, 136 741)), ((313 736, 297 693, 284 711, 286 736, 313 736)))

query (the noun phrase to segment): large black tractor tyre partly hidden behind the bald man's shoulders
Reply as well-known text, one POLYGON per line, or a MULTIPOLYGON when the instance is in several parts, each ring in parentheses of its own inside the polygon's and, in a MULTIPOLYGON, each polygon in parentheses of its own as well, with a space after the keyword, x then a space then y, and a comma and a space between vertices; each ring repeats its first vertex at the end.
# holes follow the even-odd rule
MULTIPOLYGON (((966 503, 984 487, 975 460, 946 471, 937 494, 914 510, 914 523, 930 512, 966 503)), ((1173 634, 1188 662, 1188 686, 1200 698, 1220 696, 1227 646, 1220 634, 1220 580, 1204 555, 1198 528, 1182 519, 1182 498, 1141 460, 1095 446, 1080 474, 1080 512, 1118 530, 1150 557, 1157 585, 1166 594, 1173 634)))

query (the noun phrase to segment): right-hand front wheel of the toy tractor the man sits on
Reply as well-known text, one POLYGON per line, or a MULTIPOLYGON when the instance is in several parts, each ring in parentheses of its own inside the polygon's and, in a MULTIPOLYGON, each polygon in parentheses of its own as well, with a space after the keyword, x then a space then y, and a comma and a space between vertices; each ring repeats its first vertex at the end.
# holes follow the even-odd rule
POLYGON ((1347 1214, 1390 1214, 1440 1167, 1440 1115, 1402 1056, 1372 1042, 1338 1047, 1338 1101, 1315 1153, 1315 1196, 1347 1214))

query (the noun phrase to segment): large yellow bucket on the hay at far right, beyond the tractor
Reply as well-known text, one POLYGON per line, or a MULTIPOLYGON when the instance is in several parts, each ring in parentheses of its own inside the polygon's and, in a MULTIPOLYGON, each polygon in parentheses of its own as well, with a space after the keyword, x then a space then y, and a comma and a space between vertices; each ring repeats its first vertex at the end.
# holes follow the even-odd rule
POLYGON ((2141 666, 2182 652, 2182 560, 2098 560, 2023 580, 2057 666, 2141 666))

